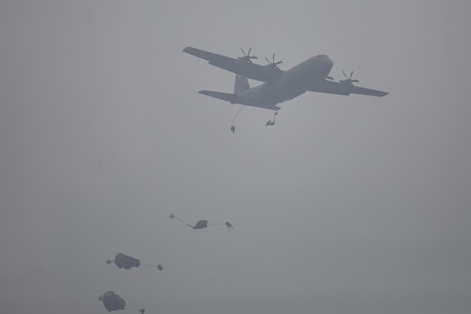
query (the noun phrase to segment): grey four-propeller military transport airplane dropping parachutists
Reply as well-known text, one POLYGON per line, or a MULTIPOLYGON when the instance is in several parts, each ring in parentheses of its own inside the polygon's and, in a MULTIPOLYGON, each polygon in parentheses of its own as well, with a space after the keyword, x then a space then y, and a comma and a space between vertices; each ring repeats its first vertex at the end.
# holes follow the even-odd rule
POLYGON ((273 54, 272 62, 265 57, 269 64, 263 66, 252 63, 251 59, 257 59, 256 56, 250 55, 252 48, 249 49, 247 54, 245 54, 242 48, 240 50, 244 56, 231 58, 192 47, 183 49, 183 52, 208 60, 209 64, 236 74, 234 94, 208 90, 201 90, 199 91, 200 94, 222 99, 231 104, 248 105, 271 110, 280 109, 277 104, 293 99, 307 91, 338 95, 362 94, 379 97, 389 94, 379 90, 354 86, 353 83, 359 82, 359 80, 352 79, 353 72, 350 73, 350 77, 347 77, 345 72, 343 72, 346 79, 334 82, 333 78, 328 76, 334 62, 325 54, 316 55, 284 71, 278 68, 278 64, 283 61, 275 62, 275 54, 273 54), (264 83, 250 88, 247 78, 264 83))

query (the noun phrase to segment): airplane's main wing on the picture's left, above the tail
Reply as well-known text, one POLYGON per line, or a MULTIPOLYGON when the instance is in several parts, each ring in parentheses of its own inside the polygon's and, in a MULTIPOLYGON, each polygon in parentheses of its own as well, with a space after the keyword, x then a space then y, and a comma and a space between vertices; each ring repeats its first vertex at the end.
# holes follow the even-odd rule
POLYGON ((192 47, 186 47, 183 49, 183 52, 208 60, 209 64, 215 65, 216 67, 244 76, 246 78, 264 82, 269 76, 269 73, 265 70, 265 67, 260 64, 249 63, 240 59, 226 57, 221 54, 207 52, 192 47))

